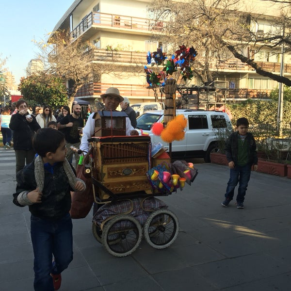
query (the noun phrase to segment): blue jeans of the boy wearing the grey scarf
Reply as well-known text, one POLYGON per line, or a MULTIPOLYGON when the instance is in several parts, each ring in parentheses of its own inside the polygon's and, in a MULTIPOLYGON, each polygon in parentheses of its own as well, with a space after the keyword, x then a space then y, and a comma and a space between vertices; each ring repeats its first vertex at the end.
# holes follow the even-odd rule
POLYGON ((72 261, 72 228, 69 213, 57 221, 31 216, 35 291, 54 291, 50 273, 62 273, 72 261), (52 255, 54 264, 52 264, 52 255))

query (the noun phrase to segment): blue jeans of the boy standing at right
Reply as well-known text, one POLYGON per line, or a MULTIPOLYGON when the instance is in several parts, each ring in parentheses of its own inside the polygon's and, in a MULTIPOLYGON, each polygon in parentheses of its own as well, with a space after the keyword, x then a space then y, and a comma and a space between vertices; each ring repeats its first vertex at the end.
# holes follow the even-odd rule
POLYGON ((249 164, 245 166, 235 166, 233 169, 230 169, 230 178, 227 183, 225 197, 230 198, 232 200, 234 195, 234 189, 236 185, 239 183, 236 201, 243 202, 247 184, 250 177, 251 177, 251 165, 249 164))

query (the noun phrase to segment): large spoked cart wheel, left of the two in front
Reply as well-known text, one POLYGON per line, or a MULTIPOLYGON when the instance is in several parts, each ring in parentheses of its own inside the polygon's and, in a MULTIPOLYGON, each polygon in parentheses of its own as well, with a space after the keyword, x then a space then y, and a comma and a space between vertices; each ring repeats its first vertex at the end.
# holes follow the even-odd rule
POLYGON ((133 253, 142 240, 142 226, 131 215, 121 214, 110 219, 102 232, 102 244, 115 257, 133 253))

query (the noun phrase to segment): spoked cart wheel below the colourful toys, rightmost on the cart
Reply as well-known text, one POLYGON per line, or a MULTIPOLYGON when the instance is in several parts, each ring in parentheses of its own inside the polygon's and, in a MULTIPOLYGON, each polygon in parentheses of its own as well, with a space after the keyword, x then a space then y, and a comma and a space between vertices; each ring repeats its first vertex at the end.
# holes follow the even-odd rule
POLYGON ((159 209, 151 213, 144 225, 145 240, 156 249, 171 245, 176 240, 178 232, 178 217, 167 209, 159 209))

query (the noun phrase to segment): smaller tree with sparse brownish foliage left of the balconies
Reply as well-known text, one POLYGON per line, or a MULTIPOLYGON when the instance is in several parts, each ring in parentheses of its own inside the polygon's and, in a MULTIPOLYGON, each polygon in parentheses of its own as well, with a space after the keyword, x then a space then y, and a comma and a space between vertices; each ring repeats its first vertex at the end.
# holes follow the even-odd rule
MULTIPOLYGON (((81 37, 73 39, 70 32, 53 32, 48 40, 37 42, 38 56, 44 63, 45 73, 69 82, 67 95, 72 104, 77 91, 84 84, 100 81, 102 73, 111 72, 113 64, 95 64, 94 48, 81 37)), ((40 74, 40 78, 43 74, 40 74)))

